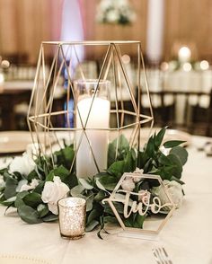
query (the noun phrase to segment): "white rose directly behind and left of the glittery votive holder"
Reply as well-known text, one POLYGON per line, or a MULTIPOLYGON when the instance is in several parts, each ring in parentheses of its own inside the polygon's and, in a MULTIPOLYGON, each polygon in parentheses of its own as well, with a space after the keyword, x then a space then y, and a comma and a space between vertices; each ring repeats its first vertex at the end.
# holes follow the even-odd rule
POLYGON ((55 176, 53 181, 47 181, 45 183, 41 199, 44 203, 48 204, 49 211, 54 215, 58 215, 57 202, 61 198, 66 198, 68 191, 68 186, 58 176, 55 176))

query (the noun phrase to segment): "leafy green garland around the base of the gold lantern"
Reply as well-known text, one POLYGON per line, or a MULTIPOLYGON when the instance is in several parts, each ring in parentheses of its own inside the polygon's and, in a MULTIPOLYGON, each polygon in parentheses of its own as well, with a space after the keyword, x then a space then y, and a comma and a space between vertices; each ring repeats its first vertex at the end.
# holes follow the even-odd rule
MULTIPOLYGON (((143 150, 136 151, 129 147, 125 136, 119 136, 117 153, 117 139, 109 145, 108 169, 97 173, 91 179, 77 179, 75 167, 70 172, 74 160, 74 145, 65 147, 53 154, 54 165, 48 156, 41 156, 35 160, 34 170, 23 175, 20 172, 10 172, 9 166, 2 169, 4 184, 0 186, 0 203, 7 207, 16 207, 18 215, 29 224, 38 224, 57 220, 57 215, 49 211, 47 203, 41 199, 45 183, 53 181, 54 177, 60 178, 70 189, 69 196, 86 199, 86 231, 92 231, 100 225, 102 230, 106 223, 117 223, 110 206, 102 204, 102 199, 109 198, 110 192, 119 182, 124 172, 134 172, 137 168, 143 169, 144 173, 160 175, 162 180, 175 180, 180 184, 182 166, 187 162, 188 153, 181 146, 184 141, 172 140, 163 144, 163 136, 166 128, 162 128, 158 134, 151 136, 143 150), (169 149, 165 155, 161 146, 169 149), (32 180, 38 180, 39 184, 30 190, 18 191, 21 180, 31 184, 32 180)), ((136 191, 147 189, 151 192, 158 186, 156 180, 141 180, 136 185, 136 191)), ((115 204, 119 215, 123 216, 123 205, 115 204)), ((134 214, 124 219, 126 226, 142 228, 146 216, 134 214)), ((101 236, 101 233, 98 233, 101 236)))

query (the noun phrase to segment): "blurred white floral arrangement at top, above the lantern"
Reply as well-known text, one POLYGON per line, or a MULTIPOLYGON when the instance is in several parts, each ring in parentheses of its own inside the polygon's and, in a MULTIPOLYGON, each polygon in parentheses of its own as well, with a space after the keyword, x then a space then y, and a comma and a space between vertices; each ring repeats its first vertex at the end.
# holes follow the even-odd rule
POLYGON ((128 0, 102 0, 97 6, 97 22, 126 25, 136 20, 128 0))

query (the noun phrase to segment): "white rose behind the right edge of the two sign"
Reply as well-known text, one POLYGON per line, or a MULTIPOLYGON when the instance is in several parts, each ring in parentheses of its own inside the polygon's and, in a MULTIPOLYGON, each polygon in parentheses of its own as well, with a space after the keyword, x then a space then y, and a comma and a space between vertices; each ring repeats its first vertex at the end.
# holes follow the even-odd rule
MULTIPOLYGON (((183 198, 181 184, 175 180, 163 180, 163 183, 165 185, 165 188, 168 190, 170 197, 172 198, 172 202, 177 208, 179 208, 181 206, 183 198)), ((160 198, 162 205, 165 203, 169 203, 169 200, 162 186, 154 188, 154 193, 156 196, 158 196, 158 198, 160 198)))

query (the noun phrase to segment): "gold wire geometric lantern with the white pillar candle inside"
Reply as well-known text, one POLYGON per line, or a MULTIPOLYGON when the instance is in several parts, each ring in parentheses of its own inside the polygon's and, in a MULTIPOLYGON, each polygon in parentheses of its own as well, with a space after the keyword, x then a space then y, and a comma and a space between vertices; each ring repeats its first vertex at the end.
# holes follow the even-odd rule
POLYGON ((41 43, 28 124, 53 165, 53 148, 63 147, 65 139, 75 148, 70 170, 92 177, 107 168, 111 140, 117 139, 118 150, 124 135, 139 149, 141 127, 152 128, 153 120, 140 41, 41 43), (141 89, 147 93, 147 114, 140 107, 141 89))

